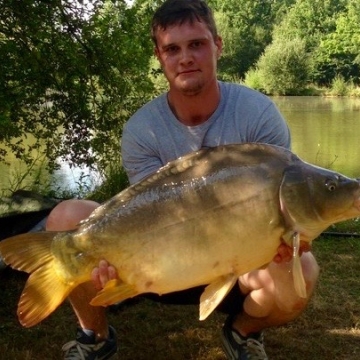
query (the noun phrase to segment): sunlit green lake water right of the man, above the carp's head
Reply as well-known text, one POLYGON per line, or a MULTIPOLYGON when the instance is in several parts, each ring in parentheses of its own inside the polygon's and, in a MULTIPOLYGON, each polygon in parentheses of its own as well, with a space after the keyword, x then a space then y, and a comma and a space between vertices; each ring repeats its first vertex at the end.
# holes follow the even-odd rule
POLYGON ((292 150, 303 160, 360 177, 360 99, 273 98, 289 123, 292 150))

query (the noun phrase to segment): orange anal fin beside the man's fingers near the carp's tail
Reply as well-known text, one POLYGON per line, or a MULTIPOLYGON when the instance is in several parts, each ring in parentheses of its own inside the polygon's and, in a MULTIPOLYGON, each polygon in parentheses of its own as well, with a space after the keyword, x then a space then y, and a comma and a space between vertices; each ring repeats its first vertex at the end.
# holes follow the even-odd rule
POLYGON ((105 287, 91 300, 94 306, 108 306, 119 301, 138 295, 134 286, 123 283, 121 280, 110 280, 105 287))

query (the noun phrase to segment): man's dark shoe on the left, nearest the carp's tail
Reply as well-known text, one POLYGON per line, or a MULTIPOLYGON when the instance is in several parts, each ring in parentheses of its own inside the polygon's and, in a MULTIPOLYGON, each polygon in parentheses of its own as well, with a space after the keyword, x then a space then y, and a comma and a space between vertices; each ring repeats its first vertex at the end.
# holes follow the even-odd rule
POLYGON ((65 360, 108 360, 116 354, 116 332, 109 326, 109 337, 106 340, 95 342, 95 334, 87 335, 78 328, 76 340, 66 343, 62 350, 65 360))

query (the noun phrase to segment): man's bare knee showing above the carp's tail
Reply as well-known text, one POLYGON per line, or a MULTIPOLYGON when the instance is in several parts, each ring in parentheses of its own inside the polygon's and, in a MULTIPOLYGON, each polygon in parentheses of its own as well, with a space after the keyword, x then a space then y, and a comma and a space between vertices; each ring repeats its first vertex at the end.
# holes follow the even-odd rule
POLYGON ((66 231, 75 229, 79 222, 86 219, 99 204, 91 200, 64 200, 50 212, 46 230, 66 231))

